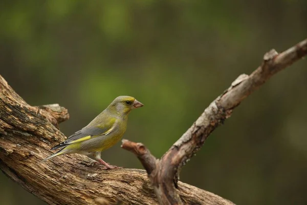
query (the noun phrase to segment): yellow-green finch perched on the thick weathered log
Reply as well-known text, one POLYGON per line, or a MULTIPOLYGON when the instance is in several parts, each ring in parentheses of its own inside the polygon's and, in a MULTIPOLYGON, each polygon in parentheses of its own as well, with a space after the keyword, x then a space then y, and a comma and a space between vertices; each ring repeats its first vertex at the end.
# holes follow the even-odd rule
POLYGON ((87 126, 51 149, 55 150, 61 148, 59 151, 43 159, 41 162, 63 154, 78 153, 96 160, 94 163, 104 165, 105 169, 118 168, 102 160, 101 152, 111 148, 122 138, 127 128, 127 120, 130 111, 143 106, 144 105, 134 97, 116 97, 112 103, 87 126))

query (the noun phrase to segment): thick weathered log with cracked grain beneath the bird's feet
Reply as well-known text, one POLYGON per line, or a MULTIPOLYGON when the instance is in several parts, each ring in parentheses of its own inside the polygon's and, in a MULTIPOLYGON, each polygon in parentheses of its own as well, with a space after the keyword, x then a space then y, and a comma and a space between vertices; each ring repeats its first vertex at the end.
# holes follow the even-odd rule
MULTIPOLYGON (((49 156, 65 139, 56 129, 68 119, 58 105, 29 106, 0 76, 0 169, 21 187, 49 204, 158 204, 146 171, 97 170, 78 154, 49 156)), ((139 148, 142 146, 139 144, 139 148)), ((147 170, 148 171, 148 170, 147 170)), ((233 204, 220 196, 179 182, 187 204, 233 204)))

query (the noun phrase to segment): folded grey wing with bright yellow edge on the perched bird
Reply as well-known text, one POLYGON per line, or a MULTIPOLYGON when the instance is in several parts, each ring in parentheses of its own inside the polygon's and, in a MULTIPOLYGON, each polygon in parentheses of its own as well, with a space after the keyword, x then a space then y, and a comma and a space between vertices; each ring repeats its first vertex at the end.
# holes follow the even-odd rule
POLYGON ((115 117, 107 117, 104 118, 105 123, 100 123, 98 126, 91 126, 89 124, 88 126, 82 128, 78 132, 74 133, 73 135, 69 136, 67 140, 62 142, 61 144, 53 147, 51 150, 55 150, 61 147, 66 147, 71 144, 75 144, 77 142, 85 141, 87 139, 91 139, 93 137, 97 137, 100 135, 107 135, 115 127, 116 118, 115 117))

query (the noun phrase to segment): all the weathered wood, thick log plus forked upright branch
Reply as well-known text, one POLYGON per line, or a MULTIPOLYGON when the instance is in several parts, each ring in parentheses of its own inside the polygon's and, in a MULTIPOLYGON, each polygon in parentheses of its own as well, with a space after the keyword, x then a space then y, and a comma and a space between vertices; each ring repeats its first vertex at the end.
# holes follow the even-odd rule
MULTIPOLYGON (((283 53, 272 51, 266 54, 264 63, 250 76, 237 78, 161 160, 138 144, 135 153, 150 182, 144 170, 97 170, 97 167, 90 166, 87 157, 78 154, 38 163, 52 153, 51 147, 65 139, 57 126, 69 118, 68 112, 56 104, 29 106, 0 76, 0 169, 49 204, 95 204, 99 203, 97 199, 100 197, 111 203, 120 199, 123 204, 158 204, 158 199, 163 204, 233 204, 220 196, 178 182, 179 170, 240 101, 273 74, 306 54, 307 39, 283 53)), ((129 143, 125 142, 126 145, 129 143)), ((134 146, 136 144, 130 148, 133 150, 134 146)), ((129 149, 129 146, 125 148, 129 149)))

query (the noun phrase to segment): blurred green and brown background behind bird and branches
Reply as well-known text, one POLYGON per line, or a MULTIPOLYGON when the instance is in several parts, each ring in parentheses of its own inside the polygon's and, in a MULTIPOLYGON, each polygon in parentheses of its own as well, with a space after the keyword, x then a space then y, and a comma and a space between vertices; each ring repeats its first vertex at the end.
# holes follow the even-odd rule
MULTIPOLYGON (((272 48, 307 37, 307 1, 1 1, 0 74, 30 105, 59 103, 70 135, 118 95, 145 107, 124 138, 161 157, 272 48)), ((306 204, 307 62, 237 107, 181 180, 236 204, 306 204)), ((142 168, 120 144, 104 160, 142 168)), ((0 203, 45 204, 0 174, 0 203), (17 197, 18 196, 18 197, 17 197)))

